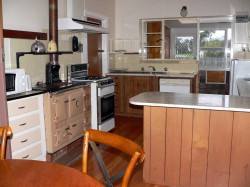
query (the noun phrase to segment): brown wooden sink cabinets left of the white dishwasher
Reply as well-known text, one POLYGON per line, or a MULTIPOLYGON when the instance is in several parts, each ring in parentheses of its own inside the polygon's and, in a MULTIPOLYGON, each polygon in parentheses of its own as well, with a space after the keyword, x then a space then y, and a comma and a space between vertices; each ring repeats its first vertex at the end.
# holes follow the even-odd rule
POLYGON ((122 75, 111 77, 115 80, 115 114, 142 116, 142 107, 129 104, 129 99, 143 92, 158 91, 158 77, 122 75))

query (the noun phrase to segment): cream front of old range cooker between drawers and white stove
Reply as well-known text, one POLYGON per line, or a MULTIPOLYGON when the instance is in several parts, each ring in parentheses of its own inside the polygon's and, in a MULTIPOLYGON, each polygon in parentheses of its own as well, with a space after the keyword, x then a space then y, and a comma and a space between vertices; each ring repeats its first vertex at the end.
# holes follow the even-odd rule
POLYGON ((53 154, 91 127, 90 86, 44 94, 47 152, 53 154))

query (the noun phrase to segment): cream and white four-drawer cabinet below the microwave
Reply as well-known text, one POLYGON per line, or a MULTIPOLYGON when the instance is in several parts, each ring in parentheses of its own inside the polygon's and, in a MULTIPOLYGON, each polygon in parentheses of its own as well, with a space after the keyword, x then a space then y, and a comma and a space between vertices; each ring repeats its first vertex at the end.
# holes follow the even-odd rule
POLYGON ((13 159, 46 160, 42 94, 7 102, 13 159))

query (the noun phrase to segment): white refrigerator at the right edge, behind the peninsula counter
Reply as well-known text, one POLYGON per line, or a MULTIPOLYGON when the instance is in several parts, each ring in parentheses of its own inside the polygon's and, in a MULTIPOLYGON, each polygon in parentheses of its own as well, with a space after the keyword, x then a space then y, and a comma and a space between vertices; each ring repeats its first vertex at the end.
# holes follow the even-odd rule
POLYGON ((239 95, 237 79, 250 78, 250 61, 232 60, 230 67, 229 95, 239 95))

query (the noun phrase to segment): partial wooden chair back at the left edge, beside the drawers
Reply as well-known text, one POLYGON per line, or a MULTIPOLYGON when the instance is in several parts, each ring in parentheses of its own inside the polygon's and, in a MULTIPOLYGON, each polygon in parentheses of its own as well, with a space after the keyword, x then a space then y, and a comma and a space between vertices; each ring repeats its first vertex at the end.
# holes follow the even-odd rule
POLYGON ((5 158, 7 137, 12 135, 11 127, 0 127, 0 160, 5 158))

